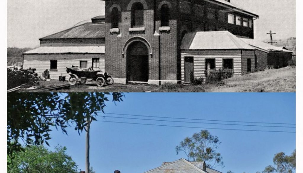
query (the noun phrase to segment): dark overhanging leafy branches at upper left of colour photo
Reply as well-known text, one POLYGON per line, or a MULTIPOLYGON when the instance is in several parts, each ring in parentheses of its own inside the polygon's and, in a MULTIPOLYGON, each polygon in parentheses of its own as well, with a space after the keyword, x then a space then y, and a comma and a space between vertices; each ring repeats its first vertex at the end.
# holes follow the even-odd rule
MULTIPOLYGON (((29 145, 48 144, 51 127, 74 125, 80 132, 87 119, 96 120, 97 112, 104 112, 105 102, 123 101, 123 93, 9 93, 7 95, 7 154, 23 151, 20 142, 29 145)), ((10 162, 8 162, 10 165, 10 162)))

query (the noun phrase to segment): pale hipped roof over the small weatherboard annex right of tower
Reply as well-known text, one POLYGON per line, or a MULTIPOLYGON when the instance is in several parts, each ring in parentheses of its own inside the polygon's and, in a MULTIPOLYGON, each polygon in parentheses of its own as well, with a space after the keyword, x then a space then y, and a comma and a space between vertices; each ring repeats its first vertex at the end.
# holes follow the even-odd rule
POLYGON ((181 49, 218 50, 218 49, 249 49, 254 50, 240 38, 228 31, 194 32, 185 34, 181 49))

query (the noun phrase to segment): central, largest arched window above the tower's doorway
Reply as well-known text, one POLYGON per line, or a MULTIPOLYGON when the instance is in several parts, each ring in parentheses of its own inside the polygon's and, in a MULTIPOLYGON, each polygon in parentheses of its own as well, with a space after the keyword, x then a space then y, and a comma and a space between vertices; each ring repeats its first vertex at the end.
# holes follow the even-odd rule
POLYGON ((132 27, 140 27, 144 25, 144 8, 140 2, 132 5, 132 27))

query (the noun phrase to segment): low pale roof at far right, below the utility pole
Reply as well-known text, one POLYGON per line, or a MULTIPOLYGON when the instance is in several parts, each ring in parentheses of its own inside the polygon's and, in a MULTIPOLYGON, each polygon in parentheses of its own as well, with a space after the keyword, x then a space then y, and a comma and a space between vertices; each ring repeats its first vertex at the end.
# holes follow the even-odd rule
POLYGON ((258 50, 264 51, 264 52, 291 52, 289 50, 283 49, 278 46, 274 46, 265 42, 258 41, 256 39, 249 39, 249 38, 240 38, 245 43, 255 47, 258 50))

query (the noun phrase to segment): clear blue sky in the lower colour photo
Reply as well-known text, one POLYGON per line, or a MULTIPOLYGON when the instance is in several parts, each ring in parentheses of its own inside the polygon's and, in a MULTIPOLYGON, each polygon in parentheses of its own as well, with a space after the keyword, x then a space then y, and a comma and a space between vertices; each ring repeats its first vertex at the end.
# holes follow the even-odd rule
MULTIPOLYGON (((107 102, 105 112, 225 121, 296 123, 295 93, 125 93, 123 100, 116 105, 111 101, 107 102)), ((120 170, 121 173, 144 173, 161 166, 164 161, 187 159, 183 153, 176 155, 175 147, 185 137, 190 137, 202 129, 295 131, 294 128, 159 122, 106 117, 132 117, 129 115, 99 115, 97 119, 101 121, 201 128, 93 121, 90 133, 90 164, 96 173, 113 173, 115 170, 120 170)), ((266 166, 273 165, 272 159, 276 153, 283 151, 290 155, 296 147, 295 133, 208 130, 221 141, 217 151, 221 153, 225 167, 218 166, 215 169, 223 173, 229 170, 234 173, 261 172, 266 166)), ((56 145, 66 146, 68 155, 78 164, 78 168, 85 170, 85 133, 79 136, 74 127, 70 127, 68 136, 55 129, 50 135, 50 149, 56 145)))

